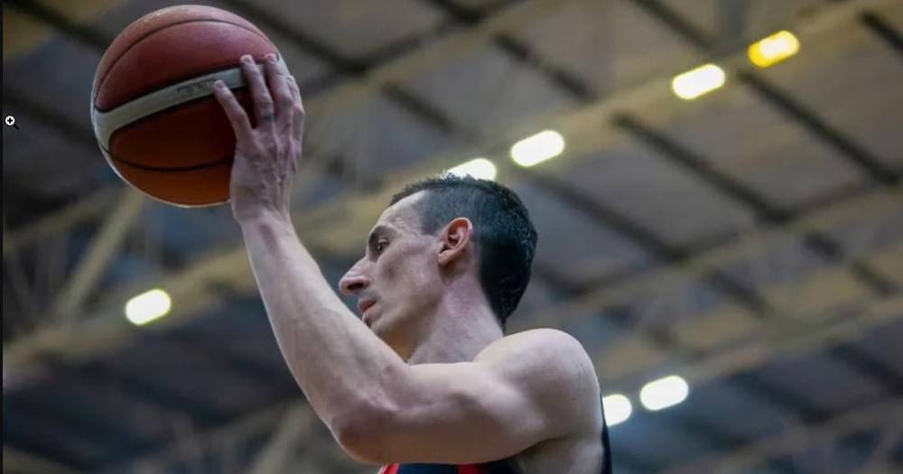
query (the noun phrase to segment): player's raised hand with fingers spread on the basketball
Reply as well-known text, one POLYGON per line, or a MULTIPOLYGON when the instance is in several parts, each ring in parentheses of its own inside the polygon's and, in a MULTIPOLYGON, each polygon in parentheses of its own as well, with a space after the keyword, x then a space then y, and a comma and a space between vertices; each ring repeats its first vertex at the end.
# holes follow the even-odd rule
POLYGON ((302 151, 301 93, 294 78, 279 70, 273 54, 266 57, 265 74, 248 55, 241 58, 241 69, 253 104, 253 124, 225 84, 218 81, 213 88, 236 136, 232 213, 239 224, 257 218, 290 219, 292 183, 302 151))

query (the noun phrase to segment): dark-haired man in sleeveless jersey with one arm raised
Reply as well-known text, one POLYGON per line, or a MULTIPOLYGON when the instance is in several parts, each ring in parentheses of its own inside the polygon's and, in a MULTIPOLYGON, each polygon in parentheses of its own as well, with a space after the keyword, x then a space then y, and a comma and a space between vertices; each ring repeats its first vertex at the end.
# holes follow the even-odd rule
POLYGON ((232 210, 285 361, 342 448, 387 474, 609 472, 582 346, 503 334, 536 241, 517 196, 454 177, 396 195, 340 282, 358 319, 293 228, 304 112, 294 79, 264 62, 242 58, 253 116, 214 87, 237 136, 232 210))

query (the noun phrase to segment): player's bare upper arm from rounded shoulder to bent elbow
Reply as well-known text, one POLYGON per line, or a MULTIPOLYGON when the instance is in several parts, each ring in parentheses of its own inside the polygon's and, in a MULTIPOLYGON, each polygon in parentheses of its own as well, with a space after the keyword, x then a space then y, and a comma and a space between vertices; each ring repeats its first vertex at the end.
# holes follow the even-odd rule
POLYGON ((500 339, 473 362, 405 367, 337 436, 358 460, 462 464, 594 429, 599 386, 579 342, 557 330, 500 339), (588 412, 590 414, 588 414, 588 412))

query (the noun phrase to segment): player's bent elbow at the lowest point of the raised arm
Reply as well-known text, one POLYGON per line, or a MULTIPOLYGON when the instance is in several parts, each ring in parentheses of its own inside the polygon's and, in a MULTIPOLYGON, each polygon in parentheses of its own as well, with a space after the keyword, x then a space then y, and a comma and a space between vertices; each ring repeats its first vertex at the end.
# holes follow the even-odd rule
POLYGON ((343 451, 358 462, 385 464, 387 459, 386 426, 393 419, 386 404, 365 401, 336 417, 330 428, 343 451))

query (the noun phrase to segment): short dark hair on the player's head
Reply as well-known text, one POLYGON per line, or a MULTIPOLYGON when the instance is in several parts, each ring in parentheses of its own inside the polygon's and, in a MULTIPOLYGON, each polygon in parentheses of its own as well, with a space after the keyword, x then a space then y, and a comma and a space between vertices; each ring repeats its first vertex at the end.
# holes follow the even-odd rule
POLYGON ((405 186, 389 205, 425 191, 415 210, 433 234, 454 218, 469 218, 479 256, 479 283, 502 328, 530 283, 536 229, 514 191, 494 181, 451 173, 405 186))

